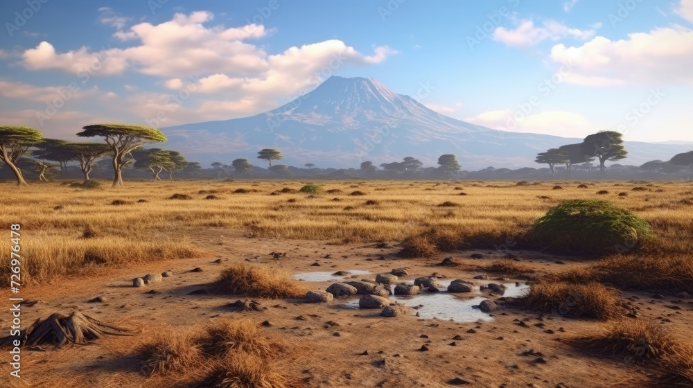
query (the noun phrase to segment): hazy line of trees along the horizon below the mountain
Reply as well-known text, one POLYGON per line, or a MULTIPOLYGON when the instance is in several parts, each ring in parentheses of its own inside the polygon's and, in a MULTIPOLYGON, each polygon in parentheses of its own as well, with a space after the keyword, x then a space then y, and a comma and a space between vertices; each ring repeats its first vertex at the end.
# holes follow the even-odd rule
MULTIPOLYGON (((186 177, 251 177, 269 173, 273 177, 310 176, 324 178, 348 177, 383 177, 410 178, 430 177, 447 179, 461 175, 511 177, 524 175, 541 175, 541 170, 534 168, 485 168, 477 172, 461 171, 457 157, 452 154, 441 155, 437 167, 423 167, 415 157, 405 157, 401 161, 392 161, 376 166, 372 161, 363 161, 360 168, 319 168, 315 164, 305 164, 305 168, 272 165, 272 161, 283 159, 281 150, 264 148, 258 152, 258 159, 267 161, 267 169, 253 166, 248 159, 234 159, 231 165, 214 162, 211 169, 203 169, 198 162, 188 161, 180 152, 161 148, 143 148, 143 145, 166 141, 164 134, 152 127, 132 124, 98 124, 87 125, 77 136, 100 137, 103 143, 71 143, 60 139, 44 139, 39 130, 17 125, 0 125, 0 160, 11 170, 17 184, 26 184, 22 169, 30 169, 40 181, 46 181, 64 175, 71 162, 84 177, 84 184, 91 179, 90 174, 98 169, 101 175, 111 169, 113 187, 123 185, 123 168, 132 168, 142 172, 148 171, 155 180, 161 180, 161 173, 167 173, 173 179, 175 173, 186 177), (50 163, 54 162, 54 163, 50 163), (379 167, 379 168, 378 168, 379 167)), ((593 162, 599 162, 599 170, 604 173, 606 161, 624 159, 627 151, 623 146, 619 132, 602 131, 590 134, 582 143, 562 145, 536 155, 536 163, 546 164, 551 175, 555 175, 558 166, 565 165, 570 176, 572 170, 591 170, 593 162)), ((684 152, 672 157, 669 161, 649 161, 635 168, 646 173, 677 173, 681 166, 690 168, 693 174, 693 151, 684 152)), ((612 170, 633 168, 613 164, 612 170)))

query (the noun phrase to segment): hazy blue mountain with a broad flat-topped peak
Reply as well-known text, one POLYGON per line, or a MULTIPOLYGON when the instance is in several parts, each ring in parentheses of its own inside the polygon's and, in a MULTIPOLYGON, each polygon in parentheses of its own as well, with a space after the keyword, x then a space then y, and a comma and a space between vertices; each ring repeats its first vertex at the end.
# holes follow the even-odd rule
MULTIPOLYGON (((545 134, 504 132, 444 116, 414 98, 396 94, 373 78, 333 76, 308 94, 269 112, 245 118, 177 125, 162 129, 166 148, 209 166, 256 159, 262 148, 283 152, 281 164, 358 168, 412 156, 435 166, 440 155, 455 154, 466 170, 488 166, 536 166, 534 157, 559 145, 579 143, 545 134)), ((620 164, 668 160, 690 145, 626 142, 629 158, 620 164)))

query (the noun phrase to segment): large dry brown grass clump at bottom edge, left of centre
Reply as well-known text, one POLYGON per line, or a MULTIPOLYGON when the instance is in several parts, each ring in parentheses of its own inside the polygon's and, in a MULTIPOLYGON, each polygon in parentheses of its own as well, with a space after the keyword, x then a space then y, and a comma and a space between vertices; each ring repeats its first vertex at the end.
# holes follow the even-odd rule
POLYGON ((164 330, 137 349, 143 371, 190 387, 298 388, 281 358, 285 346, 249 319, 225 319, 202 333, 164 330))

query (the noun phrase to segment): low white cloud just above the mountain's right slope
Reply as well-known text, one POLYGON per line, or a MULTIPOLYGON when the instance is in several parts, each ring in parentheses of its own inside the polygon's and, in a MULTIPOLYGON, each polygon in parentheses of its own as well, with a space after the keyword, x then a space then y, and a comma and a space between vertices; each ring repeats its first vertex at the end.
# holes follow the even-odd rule
POLYGON ((595 125, 584 116, 574 112, 547 111, 530 114, 516 120, 510 109, 483 112, 474 117, 465 118, 477 125, 509 132, 532 132, 565 137, 584 137, 595 130, 595 125))

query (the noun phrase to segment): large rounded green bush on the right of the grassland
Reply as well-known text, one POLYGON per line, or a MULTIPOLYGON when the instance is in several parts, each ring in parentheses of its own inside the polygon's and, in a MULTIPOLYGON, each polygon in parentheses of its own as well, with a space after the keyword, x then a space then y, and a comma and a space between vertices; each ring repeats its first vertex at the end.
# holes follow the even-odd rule
POLYGON ((534 222, 530 238, 556 252, 602 255, 653 238, 646 221, 607 201, 570 200, 534 222))

